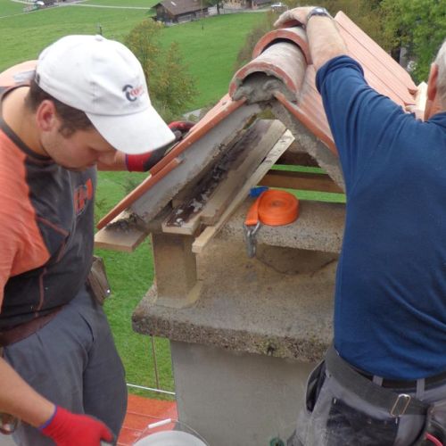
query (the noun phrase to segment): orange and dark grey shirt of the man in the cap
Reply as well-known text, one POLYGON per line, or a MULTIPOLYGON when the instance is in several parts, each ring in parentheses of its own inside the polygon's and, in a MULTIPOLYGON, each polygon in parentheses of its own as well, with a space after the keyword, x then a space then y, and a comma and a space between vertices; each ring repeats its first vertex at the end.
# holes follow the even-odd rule
POLYGON ((57 310, 85 284, 95 177, 34 153, 0 117, 0 330, 57 310))

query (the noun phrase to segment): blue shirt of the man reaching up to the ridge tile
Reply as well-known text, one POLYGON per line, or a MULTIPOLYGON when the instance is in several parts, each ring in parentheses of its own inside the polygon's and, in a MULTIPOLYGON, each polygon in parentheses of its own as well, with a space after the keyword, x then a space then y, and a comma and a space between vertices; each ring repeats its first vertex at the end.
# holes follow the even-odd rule
POLYGON ((347 194, 335 347, 395 379, 446 370, 446 113, 422 122, 332 59, 317 86, 347 194))

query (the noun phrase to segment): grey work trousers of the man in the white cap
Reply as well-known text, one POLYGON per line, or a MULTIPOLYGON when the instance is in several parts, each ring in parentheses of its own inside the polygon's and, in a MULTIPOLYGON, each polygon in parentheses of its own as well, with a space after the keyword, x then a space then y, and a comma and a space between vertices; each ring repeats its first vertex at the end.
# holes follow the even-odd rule
MULTIPOLYGON (((116 437, 120 433, 127 410, 124 368, 103 308, 86 289, 34 335, 5 347, 4 359, 54 404, 100 419, 116 437)), ((13 439, 21 446, 54 444, 26 423, 13 439)))

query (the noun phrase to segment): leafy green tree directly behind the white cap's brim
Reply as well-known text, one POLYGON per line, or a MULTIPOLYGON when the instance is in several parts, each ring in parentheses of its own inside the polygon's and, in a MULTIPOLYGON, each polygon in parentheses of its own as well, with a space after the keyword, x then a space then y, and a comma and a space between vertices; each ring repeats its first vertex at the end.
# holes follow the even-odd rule
POLYGON ((145 19, 130 31, 125 40, 143 66, 150 97, 164 120, 173 120, 186 111, 196 93, 194 78, 181 58, 179 45, 162 50, 162 25, 145 19))

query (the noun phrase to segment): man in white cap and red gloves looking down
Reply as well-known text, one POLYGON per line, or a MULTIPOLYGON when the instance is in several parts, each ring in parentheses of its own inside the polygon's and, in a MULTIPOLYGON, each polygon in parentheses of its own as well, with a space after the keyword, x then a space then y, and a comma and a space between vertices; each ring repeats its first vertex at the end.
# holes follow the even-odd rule
POLYGON ((63 37, 40 54, 30 83, 4 89, 0 412, 21 420, 19 444, 116 440, 124 371, 86 285, 95 167, 149 169, 153 150, 174 139, 134 54, 101 36, 63 37))

